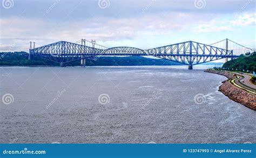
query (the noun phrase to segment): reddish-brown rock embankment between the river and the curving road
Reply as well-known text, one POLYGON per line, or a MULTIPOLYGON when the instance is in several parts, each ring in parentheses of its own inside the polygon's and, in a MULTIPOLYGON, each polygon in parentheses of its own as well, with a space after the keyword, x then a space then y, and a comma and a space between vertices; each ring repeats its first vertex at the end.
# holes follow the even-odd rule
MULTIPOLYGON (((207 69, 204 72, 224 75, 228 79, 235 78, 233 74, 223 71, 207 69)), ((256 95, 241 90, 240 88, 232 85, 228 80, 223 81, 223 84, 219 86, 219 91, 225 94, 231 100, 239 102, 240 104, 256 111, 256 95)))

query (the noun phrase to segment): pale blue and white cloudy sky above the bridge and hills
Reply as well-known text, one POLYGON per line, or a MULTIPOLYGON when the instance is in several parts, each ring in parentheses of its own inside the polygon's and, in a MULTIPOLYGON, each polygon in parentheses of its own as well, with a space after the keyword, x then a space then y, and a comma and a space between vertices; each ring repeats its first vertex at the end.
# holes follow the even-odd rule
POLYGON ((2 0, 0 51, 66 40, 141 49, 229 38, 256 48, 255 0, 2 0))

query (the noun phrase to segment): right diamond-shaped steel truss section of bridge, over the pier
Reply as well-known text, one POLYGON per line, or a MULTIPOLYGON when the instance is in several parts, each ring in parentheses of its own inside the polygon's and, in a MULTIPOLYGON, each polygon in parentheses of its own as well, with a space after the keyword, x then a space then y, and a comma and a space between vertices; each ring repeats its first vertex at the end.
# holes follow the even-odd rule
POLYGON ((233 52, 219 47, 187 41, 145 50, 147 54, 176 61, 185 65, 196 65, 222 58, 234 58, 233 52))

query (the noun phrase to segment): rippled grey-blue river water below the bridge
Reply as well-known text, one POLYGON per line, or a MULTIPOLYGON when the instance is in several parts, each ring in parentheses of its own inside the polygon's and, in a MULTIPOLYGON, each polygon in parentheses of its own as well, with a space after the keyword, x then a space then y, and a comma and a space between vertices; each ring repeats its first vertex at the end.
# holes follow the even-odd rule
POLYGON ((256 112, 194 68, 0 67, 0 143, 256 143, 256 112))

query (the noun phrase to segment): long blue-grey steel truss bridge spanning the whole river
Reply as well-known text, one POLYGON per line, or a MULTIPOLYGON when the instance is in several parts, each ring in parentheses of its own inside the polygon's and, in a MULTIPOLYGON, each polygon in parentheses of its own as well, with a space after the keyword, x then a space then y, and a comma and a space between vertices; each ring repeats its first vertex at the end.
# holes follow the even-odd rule
POLYGON ((192 69, 193 65, 206 63, 208 61, 239 57, 238 54, 233 54, 233 50, 228 50, 228 39, 221 40, 211 45, 187 41, 146 50, 125 46, 105 47, 96 44, 95 41, 89 42, 91 45, 88 46, 86 42, 89 41, 85 39, 79 40, 78 43, 60 41, 36 48, 34 43, 33 49, 30 45, 29 59, 39 56, 57 61, 60 63, 60 66, 65 66, 76 60, 81 60, 81 64, 85 65, 86 58, 96 56, 153 56, 188 65, 188 69, 192 69), (225 48, 213 46, 223 41, 226 42, 225 48))

